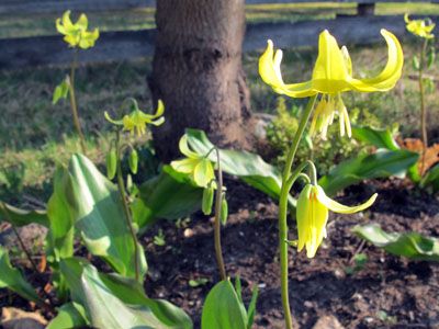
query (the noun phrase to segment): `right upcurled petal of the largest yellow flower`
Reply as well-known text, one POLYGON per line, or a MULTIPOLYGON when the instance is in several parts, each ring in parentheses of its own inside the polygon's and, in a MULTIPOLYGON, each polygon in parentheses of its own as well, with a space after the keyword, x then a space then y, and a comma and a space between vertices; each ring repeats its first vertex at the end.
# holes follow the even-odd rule
POLYGON ((350 84, 357 91, 387 91, 395 87, 404 65, 403 48, 396 36, 386 30, 381 30, 389 48, 389 59, 384 69, 374 78, 370 79, 351 79, 350 84))

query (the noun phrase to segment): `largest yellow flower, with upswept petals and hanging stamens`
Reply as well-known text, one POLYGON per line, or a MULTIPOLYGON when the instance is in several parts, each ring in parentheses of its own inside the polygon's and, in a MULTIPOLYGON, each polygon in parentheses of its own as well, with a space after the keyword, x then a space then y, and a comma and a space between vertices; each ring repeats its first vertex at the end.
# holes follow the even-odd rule
POLYGON ((339 48, 336 38, 327 30, 318 38, 318 56, 314 66, 312 79, 300 83, 284 83, 281 73, 282 50, 274 54, 273 43, 268 41, 268 47, 259 59, 259 73, 262 80, 275 92, 291 98, 307 98, 322 94, 317 104, 311 133, 319 131, 326 139, 328 125, 337 114, 340 120, 340 135, 350 137, 348 111, 341 100, 345 91, 387 91, 401 77, 404 55, 396 36, 386 30, 381 30, 389 47, 389 59, 384 69, 373 78, 356 79, 352 77, 352 63, 346 47, 339 48))

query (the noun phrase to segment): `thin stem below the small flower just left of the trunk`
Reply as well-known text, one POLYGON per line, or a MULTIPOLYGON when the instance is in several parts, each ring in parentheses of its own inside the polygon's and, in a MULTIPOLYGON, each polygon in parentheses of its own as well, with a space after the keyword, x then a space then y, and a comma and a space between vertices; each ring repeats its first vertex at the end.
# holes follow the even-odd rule
POLYGON ((138 254, 138 242, 137 242, 137 236, 136 231, 133 226, 133 218, 131 216, 128 203, 126 201, 126 191, 125 191, 125 184, 123 180, 123 174, 122 174, 122 164, 121 164, 121 133, 117 131, 116 133, 116 139, 115 139, 115 147, 116 147, 116 175, 117 175, 117 186, 119 186, 119 193, 121 194, 121 200, 122 200, 122 205, 123 209, 125 213, 125 218, 126 218, 126 224, 128 225, 131 236, 133 238, 133 243, 134 243, 134 266, 135 266, 135 275, 136 275, 136 281, 139 281, 140 277, 140 269, 139 269, 139 254, 138 254))

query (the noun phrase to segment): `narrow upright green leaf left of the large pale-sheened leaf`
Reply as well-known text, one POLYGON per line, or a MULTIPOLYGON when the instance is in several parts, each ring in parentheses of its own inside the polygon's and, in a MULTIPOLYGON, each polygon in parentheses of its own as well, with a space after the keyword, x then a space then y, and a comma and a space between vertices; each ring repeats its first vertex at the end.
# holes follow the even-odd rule
POLYGON ((71 178, 68 171, 57 168, 54 175, 54 193, 47 203, 47 216, 50 223, 47 237, 48 249, 57 262, 60 258, 74 254, 75 218, 64 193, 65 186, 69 185, 71 185, 71 178))

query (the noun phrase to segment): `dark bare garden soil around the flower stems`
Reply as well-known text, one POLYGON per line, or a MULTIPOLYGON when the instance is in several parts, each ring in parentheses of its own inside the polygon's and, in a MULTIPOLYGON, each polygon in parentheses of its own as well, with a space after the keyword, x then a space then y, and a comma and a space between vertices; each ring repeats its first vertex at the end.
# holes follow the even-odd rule
MULTIPOLYGON (((245 302, 259 286, 255 328, 283 328, 278 261, 278 207, 251 188, 227 180, 229 219, 222 230, 227 274, 240 276, 245 302)), ((439 200, 401 180, 373 181, 339 195, 357 204, 378 192, 373 207, 362 214, 331 214, 328 238, 316 257, 290 252, 290 295, 300 328, 313 328, 327 315, 346 328, 439 328, 439 265, 385 253, 362 242, 350 229, 375 222, 386 230, 415 230, 439 236, 439 200), (365 253, 364 266, 353 273, 353 256, 365 253)), ((217 282, 212 218, 161 222, 142 238, 149 272, 145 288, 150 297, 181 306, 200 328, 203 300, 217 282), (166 245, 154 245, 162 230, 166 245), (207 279, 192 287, 190 280, 207 279)), ((295 238, 293 222, 291 239, 295 238)), ((31 309, 24 299, 0 291, 0 306, 31 309)), ((322 328, 322 327, 320 327, 322 328)), ((327 327, 325 327, 327 328, 327 327)))

